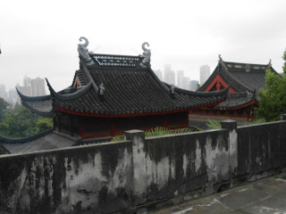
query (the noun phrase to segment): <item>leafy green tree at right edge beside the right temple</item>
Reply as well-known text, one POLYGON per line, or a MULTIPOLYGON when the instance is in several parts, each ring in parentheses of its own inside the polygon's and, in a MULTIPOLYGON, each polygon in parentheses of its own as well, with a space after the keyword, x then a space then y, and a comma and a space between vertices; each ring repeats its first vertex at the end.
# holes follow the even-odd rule
POLYGON ((255 109, 257 118, 274 121, 281 119, 281 115, 286 113, 286 76, 283 78, 274 74, 270 70, 265 76, 266 90, 259 91, 259 107, 255 109))

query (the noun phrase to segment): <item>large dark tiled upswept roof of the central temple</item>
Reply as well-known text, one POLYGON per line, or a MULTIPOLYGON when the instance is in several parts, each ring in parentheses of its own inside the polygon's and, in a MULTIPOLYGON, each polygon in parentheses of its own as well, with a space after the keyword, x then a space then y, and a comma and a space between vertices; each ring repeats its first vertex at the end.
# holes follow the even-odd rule
POLYGON ((153 70, 139 65, 139 57, 93 54, 91 58, 95 61, 93 65, 80 60, 80 70, 89 78, 89 81, 86 79, 88 85, 80 91, 59 95, 47 82, 55 106, 62 110, 111 116, 188 111, 222 102, 228 92, 228 88, 211 93, 175 88, 175 95, 172 96, 170 89, 153 70), (100 61, 105 59, 106 62, 100 61), (114 60, 109 62, 111 59, 114 60), (98 95, 101 83, 105 87, 104 99, 98 95))

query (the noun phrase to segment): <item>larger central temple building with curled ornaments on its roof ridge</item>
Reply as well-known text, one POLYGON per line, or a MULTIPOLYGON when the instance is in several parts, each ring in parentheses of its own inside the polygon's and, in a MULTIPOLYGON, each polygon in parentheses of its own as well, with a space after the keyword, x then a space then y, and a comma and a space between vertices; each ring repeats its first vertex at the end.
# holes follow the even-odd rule
MULTIPOLYGON (((95 142, 98 137, 122 135, 130 129, 188 128, 189 111, 211 108, 226 99, 229 87, 191 92, 162 82, 151 69, 147 43, 139 56, 110 55, 88 52, 88 39, 82 39, 80 70, 71 86, 55 92, 46 79, 50 95, 29 97, 18 91, 21 103, 30 111, 54 119, 54 130, 38 136, 42 140, 37 144, 48 141, 48 149, 95 142)), ((38 137, 20 139, 21 145, 29 144, 25 152, 34 150, 30 144, 38 137)), ((7 144, 17 141, 7 142, 0 138, 0 145, 13 152, 7 144)))

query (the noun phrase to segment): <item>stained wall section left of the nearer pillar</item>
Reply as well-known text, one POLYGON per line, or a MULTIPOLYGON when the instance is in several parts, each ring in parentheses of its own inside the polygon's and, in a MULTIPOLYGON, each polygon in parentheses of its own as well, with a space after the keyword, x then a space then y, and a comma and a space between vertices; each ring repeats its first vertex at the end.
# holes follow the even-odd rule
POLYGON ((130 142, 0 158, 0 213, 109 213, 130 208, 130 142))

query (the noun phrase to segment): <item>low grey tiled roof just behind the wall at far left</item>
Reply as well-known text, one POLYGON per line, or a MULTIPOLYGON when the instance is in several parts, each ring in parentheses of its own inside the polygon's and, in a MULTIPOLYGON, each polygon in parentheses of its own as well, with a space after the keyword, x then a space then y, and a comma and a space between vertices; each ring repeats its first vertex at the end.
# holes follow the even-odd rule
POLYGON ((77 144, 79 144, 78 138, 57 133, 53 129, 46 130, 35 136, 17 139, 0 136, 0 146, 8 153, 50 150, 77 144))

